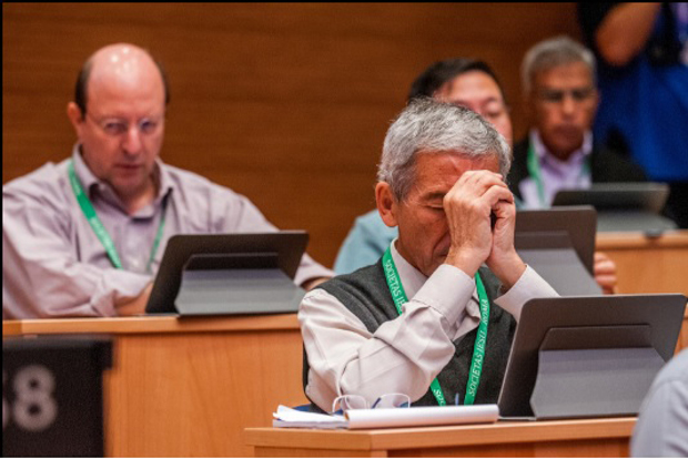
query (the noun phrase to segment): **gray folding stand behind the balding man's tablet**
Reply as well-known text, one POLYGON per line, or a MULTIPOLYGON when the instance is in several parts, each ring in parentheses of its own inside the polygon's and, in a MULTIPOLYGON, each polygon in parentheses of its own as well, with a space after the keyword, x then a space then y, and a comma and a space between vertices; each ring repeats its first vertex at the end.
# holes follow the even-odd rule
POLYGON ((305 292, 279 267, 277 258, 271 252, 192 255, 182 271, 176 312, 182 316, 297 312, 305 292))

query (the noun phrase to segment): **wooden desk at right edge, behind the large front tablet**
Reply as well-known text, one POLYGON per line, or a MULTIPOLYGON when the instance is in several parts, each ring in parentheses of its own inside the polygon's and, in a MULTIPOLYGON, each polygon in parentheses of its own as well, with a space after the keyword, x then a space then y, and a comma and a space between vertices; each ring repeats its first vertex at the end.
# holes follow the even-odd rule
MULTIPOLYGON (((681 293, 688 296, 688 231, 657 238, 637 233, 598 233, 596 248, 617 266, 623 294, 681 293)), ((688 310, 677 349, 688 347, 688 310)))

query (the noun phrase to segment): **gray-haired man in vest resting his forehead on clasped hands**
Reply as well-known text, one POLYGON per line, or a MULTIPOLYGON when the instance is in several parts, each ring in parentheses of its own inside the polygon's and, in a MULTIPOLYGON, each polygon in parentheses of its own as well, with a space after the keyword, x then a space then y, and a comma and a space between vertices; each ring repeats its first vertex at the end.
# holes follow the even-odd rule
POLYGON ((398 237, 300 307, 304 390, 320 409, 385 394, 496 402, 523 305, 556 296, 514 248, 509 163, 504 137, 468 109, 421 99, 394 121, 375 197, 398 237))

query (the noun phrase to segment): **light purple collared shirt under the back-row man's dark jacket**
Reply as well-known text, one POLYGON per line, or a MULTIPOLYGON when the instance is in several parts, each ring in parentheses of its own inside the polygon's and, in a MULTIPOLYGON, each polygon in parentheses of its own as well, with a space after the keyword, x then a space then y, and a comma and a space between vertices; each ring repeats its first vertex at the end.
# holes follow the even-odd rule
POLYGON ((585 133, 580 149, 576 150, 568 157, 568 161, 561 161, 549 153, 539 133, 535 130, 530 131, 530 145, 535 149, 535 155, 540 165, 543 188, 547 203, 545 206, 542 205, 537 183, 533 177, 528 177, 518 185, 523 196, 523 208, 548 208, 559 190, 586 190, 590 187, 593 183, 590 172, 585 169, 585 162, 593 153, 593 134, 589 131, 585 133))

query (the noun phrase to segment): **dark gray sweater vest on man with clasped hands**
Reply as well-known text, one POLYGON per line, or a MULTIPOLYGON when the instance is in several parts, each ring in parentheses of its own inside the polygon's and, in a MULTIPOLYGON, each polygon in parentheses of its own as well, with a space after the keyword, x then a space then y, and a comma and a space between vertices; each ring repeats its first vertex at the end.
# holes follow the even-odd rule
MULTIPOLYGON (((487 268, 480 268, 479 273, 489 298, 489 324, 487 326, 487 345, 483 375, 475 397, 475 404, 496 404, 514 338, 514 330, 516 329, 516 320, 510 314, 493 302, 497 297, 499 280, 487 268)), ((320 285, 318 288, 337 298, 363 322, 371 333, 375 333, 383 323, 398 317, 392 294, 387 288, 382 261, 352 274, 334 277, 320 285)), ((439 386, 449 405, 454 404, 456 394, 459 394, 461 404, 463 405, 476 335, 477 329, 474 329, 454 341, 456 351, 437 376, 439 386)), ((303 385, 305 389, 308 375, 308 360, 305 351, 303 366, 303 385)), ((437 400, 428 388, 427 392, 413 402, 413 405, 437 405, 437 400)))

